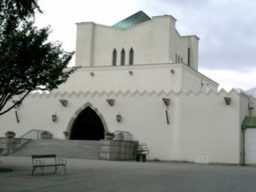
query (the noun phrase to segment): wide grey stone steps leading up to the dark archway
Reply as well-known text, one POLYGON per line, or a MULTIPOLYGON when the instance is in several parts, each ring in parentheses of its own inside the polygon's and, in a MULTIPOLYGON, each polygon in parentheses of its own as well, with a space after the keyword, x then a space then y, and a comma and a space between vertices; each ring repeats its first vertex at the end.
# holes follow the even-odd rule
POLYGON ((32 140, 10 155, 56 154, 57 157, 98 160, 99 148, 100 141, 42 139, 32 140))

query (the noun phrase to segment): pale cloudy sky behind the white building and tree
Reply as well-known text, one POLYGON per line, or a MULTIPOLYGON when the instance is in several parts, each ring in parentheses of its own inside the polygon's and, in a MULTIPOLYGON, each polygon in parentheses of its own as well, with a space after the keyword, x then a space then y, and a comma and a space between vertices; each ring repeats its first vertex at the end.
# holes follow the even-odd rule
MULTIPOLYGON (((38 27, 50 26, 49 40, 75 50, 76 25, 94 21, 112 26, 143 10, 148 16, 172 15, 181 35, 199 41, 199 72, 219 89, 256 87, 256 1, 252 0, 38 0, 44 15, 38 27)), ((74 65, 74 58, 70 66, 74 65)))

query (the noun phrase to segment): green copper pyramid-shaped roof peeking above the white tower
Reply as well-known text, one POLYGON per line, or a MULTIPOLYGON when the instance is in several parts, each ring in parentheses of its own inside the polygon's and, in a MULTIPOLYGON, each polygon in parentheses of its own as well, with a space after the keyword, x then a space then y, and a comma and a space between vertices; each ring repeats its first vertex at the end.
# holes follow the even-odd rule
POLYGON ((139 11, 136 14, 125 18, 125 20, 121 20, 118 23, 114 24, 113 27, 126 29, 130 28, 131 26, 136 26, 137 24, 143 23, 147 20, 151 20, 151 18, 143 11, 139 11))

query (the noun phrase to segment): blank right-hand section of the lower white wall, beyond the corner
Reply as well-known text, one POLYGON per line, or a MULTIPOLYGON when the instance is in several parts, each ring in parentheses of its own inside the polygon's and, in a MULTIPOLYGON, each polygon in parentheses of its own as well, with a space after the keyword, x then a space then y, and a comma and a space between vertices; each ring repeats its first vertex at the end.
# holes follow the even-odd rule
POLYGON ((239 164, 240 96, 232 92, 230 105, 225 104, 224 96, 224 92, 182 96, 181 159, 239 164))

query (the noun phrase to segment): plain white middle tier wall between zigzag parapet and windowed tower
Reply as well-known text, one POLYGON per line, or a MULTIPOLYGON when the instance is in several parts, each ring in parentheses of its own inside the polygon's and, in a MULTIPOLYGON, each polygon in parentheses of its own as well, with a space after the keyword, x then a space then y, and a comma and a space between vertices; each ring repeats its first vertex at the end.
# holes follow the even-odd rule
POLYGON ((200 91, 202 82, 208 84, 210 90, 217 91, 216 82, 184 64, 82 67, 55 91, 200 91))

